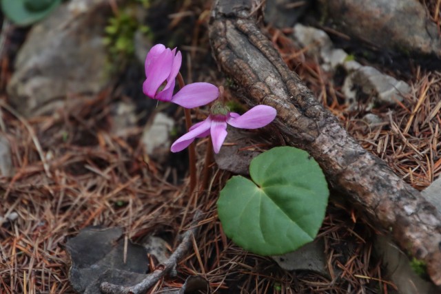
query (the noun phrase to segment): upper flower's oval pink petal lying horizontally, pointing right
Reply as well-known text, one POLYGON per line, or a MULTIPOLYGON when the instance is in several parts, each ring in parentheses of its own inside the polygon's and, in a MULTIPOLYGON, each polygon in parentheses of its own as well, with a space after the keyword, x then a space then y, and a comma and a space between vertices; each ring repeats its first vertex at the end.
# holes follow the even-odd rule
POLYGON ((172 102, 185 108, 208 104, 218 98, 218 87, 210 83, 192 83, 177 92, 172 102))

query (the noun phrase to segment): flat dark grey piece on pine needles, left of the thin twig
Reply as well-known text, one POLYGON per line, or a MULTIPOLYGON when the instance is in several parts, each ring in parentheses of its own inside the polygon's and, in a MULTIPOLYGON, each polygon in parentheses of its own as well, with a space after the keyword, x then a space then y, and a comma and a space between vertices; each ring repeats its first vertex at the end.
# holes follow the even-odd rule
POLYGON ((148 251, 123 238, 123 229, 85 227, 66 242, 72 266, 69 280, 77 293, 100 294, 100 285, 138 284, 150 271, 148 251))

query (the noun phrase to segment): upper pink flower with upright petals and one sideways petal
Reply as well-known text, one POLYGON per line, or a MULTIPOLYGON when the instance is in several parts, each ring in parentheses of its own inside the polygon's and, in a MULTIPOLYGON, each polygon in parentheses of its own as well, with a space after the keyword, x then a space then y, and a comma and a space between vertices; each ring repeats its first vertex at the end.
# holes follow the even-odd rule
POLYGON ((176 76, 181 68, 181 52, 165 48, 162 44, 152 47, 145 58, 143 92, 159 101, 176 103, 185 108, 198 107, 214 101, 219 90, 210 83, 192 83, 173 96, 176 76))

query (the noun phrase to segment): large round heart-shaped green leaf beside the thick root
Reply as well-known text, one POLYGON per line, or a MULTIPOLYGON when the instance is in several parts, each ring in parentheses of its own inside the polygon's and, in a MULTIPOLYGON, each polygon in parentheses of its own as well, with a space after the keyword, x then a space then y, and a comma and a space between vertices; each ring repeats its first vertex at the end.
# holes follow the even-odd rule
POLYGON ((280 255, 316 238, 329 190, 306 151, 276 147, 249 167, 252 180, 234 176, 220 191, 218 216, 225 234, 247 251, 280 255))

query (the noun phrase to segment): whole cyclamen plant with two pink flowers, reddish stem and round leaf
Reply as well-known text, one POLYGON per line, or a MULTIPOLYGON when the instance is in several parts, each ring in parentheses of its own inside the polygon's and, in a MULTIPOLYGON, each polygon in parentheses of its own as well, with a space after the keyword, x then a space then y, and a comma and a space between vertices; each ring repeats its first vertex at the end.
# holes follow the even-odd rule
MULTIPOLYGON (((180 51, 154 45, 145 59, 143 92, 158 101, 184 107, 187 125, 191 125, 189 108, 214 102, 207 118, 188 127, 187 134, 170 147, 172 152, 189 147, 192 194, 196 159, 191 154, 196 138, 211 136, 214 153, 218 154, 227 138, 227 125, 240 129, 265 127, 276 118, 277 110, 256 105, 241 115, 232 112, 225 105, 223 87, 210 83, 184 85, 178 72, 181 61, 180 51), (176 78, 181 81, 181 90, 173 94, 176 78)), ((217 209, 225 235, 260 255, 281 255, 312 242, 325 218, 329 197, 325 175, 316 160, 295 147, 275 147, 252 160, 249 174, 251 179, 233 176, 220 191, 217 209)))

